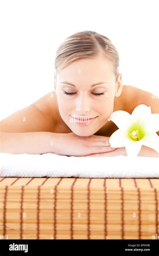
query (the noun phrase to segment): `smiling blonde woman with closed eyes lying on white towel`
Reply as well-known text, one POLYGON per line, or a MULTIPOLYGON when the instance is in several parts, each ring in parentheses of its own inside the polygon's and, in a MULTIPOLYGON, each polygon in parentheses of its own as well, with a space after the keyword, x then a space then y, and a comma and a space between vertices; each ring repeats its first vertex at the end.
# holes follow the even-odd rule
MULTIPOLYGON (((139 104, 158 113, 158 98, 122 85, 119 54, 110 39, 93 31, 77 32, 56 51, 55 91, 1 120, 1 152, 67 156, 126 156, 111 148, 118 129, 108 121, 116 110, 132 113, 139 104)), ((159 135, 159 133, 157 133, 159 135)), ((142 146, 138 156, 158 157, 142 146)))

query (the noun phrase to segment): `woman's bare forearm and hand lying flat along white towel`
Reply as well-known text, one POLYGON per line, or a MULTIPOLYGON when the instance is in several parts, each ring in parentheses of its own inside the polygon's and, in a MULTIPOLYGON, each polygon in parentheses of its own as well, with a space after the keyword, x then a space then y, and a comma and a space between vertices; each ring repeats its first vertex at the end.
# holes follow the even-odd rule
POLYGON ((81 137, 71 133, 25 132, 0 133, 0 152, 10 154, 56 153, 67 156, 86 156, 115 150, 109 137, 81 137))

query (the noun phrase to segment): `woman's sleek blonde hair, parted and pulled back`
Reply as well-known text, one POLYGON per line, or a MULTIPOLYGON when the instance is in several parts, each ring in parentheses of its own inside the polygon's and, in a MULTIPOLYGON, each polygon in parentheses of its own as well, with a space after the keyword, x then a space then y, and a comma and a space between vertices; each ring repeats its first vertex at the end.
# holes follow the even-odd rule
MULTIPOLYGON (((85 30, 67 37, 58 47, 55 58, 55 73, 72 61, 94 58, 99 54, 111 62, 115 82, 119 75, 119 54, 110 39, 94 31, 85 30)), ((57 76, 56 76, 57 78, 57 76)))

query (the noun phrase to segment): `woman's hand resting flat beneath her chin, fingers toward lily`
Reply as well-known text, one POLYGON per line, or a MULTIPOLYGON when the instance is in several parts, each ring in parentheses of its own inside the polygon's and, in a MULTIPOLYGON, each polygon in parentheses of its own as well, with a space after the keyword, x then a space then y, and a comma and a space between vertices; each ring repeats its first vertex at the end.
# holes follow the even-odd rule
POLYGON ((73 132, 54 133, 53 153, 66 156, 87 156, 90 154, 112 152, 110 137, 91 135, 78 136, 73 132))

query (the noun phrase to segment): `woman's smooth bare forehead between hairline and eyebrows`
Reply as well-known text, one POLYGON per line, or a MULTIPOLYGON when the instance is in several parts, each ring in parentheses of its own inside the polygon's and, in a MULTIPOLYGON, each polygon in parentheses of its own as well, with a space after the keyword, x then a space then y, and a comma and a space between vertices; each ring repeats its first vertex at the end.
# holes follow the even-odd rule
POLYGON ((59 83, 64 80, 76 83, 84 79, 85 82, 92 83, 93 81, 99 82, 102 79, 112 79, 113 76, 111 62, 104 56, 99 56, 71 62, 58 71, 57 80, 59 83))

